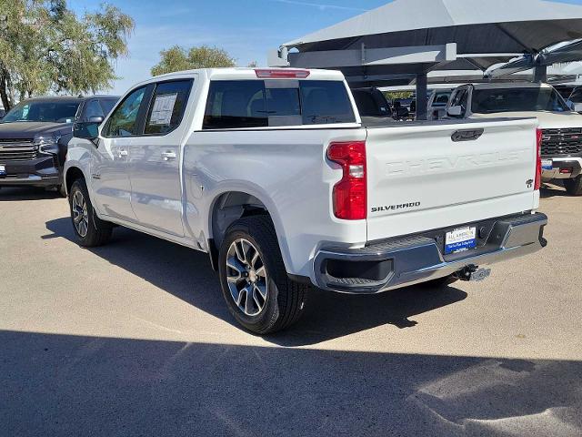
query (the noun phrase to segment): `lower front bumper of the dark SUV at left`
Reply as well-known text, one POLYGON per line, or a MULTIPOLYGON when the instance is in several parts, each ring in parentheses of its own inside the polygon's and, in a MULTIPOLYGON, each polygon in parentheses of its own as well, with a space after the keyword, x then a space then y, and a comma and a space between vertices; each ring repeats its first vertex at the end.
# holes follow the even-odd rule
POLYGON ((0 187, 55 187, 62 183, 62 171, 52 155, 0 165, 6 169, 6 174, 0 175, 0 187))

